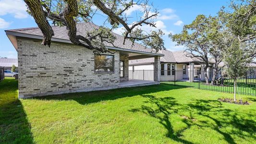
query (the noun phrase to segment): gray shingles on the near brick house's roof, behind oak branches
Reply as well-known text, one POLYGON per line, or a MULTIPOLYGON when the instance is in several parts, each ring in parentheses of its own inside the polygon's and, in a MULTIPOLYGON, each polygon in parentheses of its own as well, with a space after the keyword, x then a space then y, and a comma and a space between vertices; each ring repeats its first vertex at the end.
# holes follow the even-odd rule
MULTIPOLYGON (((98 25, 93 24, 93 23, 78 23, 77 24, 77 35, 85 36, 87 32, 97 29, 98 27, 99 27, 98 25)), ((52 26, 52 29, 54 31, 53 38, 69 40, 66 27, 52 26)), ((41 30, 38 27, 12 29, 12 30, 7 30, 7 31, 22 33, 22 34, 29 34, 29 35, 36 35, 36 36, 43 36, 41 30)), ((123 36, 120 36, 115 33, 113 33, 113 35, 116 36, 116 38, 117 38, 114 42, 114 45, 117 48, 125 48, 125 49, 133 49, 133 50, 139 50, 139 51, 145 51, 145 52, 152 52, 152 49, 146 48, 143 45, 138 44, 138 43, 134 43, 134 46, 132 46, 132 42, 129 39, 127 39, 125 41, 125 45, 123 45, 123 36)), ((105 43, 105 45, 109 46, 109 47, 113 47, 110 43, 105 43)))

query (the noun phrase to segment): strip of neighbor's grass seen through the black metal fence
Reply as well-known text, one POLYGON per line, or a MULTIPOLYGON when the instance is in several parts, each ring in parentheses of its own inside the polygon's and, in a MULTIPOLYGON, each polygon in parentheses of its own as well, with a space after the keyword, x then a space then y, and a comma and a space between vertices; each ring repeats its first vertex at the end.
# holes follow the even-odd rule
MULTIPOLYGON (((237 82, 237 88, 236 92, 239 94, 244 95, 251 95, 256 96, 256 79, 248 79, 247 84, 245 82, 245 79, 239 79, 237 82)), ((187 86, 187 87, 193 87, 197 89, 204 89, 204 90, 212 90, 212 91, 219 91, 219 92, 225 92, 225 93, 233 93, 233 81, 232 80, 225 80, 223 85, 210 85, 205 84, 203 82, 182 82, 182 81, 176 81, 176 82, 161 82, 161 84, 172 84, 172 85, 180 85, 180 86, 187 86)))

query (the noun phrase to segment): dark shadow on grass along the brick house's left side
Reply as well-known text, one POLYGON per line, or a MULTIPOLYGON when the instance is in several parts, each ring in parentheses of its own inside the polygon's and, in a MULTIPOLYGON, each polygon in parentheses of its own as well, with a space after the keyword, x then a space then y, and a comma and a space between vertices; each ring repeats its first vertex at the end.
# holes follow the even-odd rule
POLYGON ((17 82, 12 87, 4 80, 0 84, 0 143, 1 144, 33 144, 30 124, 21 101, 16 95, 17 82), (7 85, 6 85, 7 84, 7 85), (5 86, 6 85, 6 86, 5 86))

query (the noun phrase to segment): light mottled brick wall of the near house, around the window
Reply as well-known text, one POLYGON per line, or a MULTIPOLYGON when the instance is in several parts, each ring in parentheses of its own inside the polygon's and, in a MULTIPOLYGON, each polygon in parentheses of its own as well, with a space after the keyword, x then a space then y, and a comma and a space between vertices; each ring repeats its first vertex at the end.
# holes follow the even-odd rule
MULTIPOLYGON (((112 73, 94 72, 94 53, 73 44, 17 37, 19 98, 82 92, 119 85, 119 52, 114 54, 112 73)), ((106 88, 106 89, 109 89, 106 88)))

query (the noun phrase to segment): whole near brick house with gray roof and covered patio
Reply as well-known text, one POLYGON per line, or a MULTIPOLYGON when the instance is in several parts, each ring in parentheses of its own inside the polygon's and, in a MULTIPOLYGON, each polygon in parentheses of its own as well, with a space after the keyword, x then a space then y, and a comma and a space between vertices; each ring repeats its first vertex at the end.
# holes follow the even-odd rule
MULTIPOLYGON (((87 31, 97 28, 98 25, 92 23, 79 23, 77 35, 85 36, 87 31)), ((141 58, 154 59, 155 82, 150 84, 159 84, 163 54, 138 43, 132 47, 129 40, 123 45, 123 37, 114 34, 116 47, 109 43, 106 46, 115 53, 98 56, 90 49, 71 43, 65 27, 53 26, 52 29, 50 47, 41 45, 42 32, 38 27, 5 31, 18 52, 19 98, 125 87, 129 80, 129 60, 141 58)))

